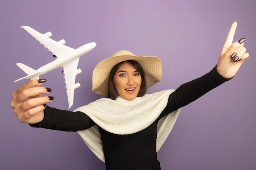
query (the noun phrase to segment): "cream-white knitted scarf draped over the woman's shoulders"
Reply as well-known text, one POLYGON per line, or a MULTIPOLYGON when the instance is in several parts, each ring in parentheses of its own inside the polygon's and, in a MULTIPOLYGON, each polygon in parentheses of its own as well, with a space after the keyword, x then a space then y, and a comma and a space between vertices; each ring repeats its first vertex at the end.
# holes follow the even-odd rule
MULTIPOLYGON (((168 102, 168 97, 174 90, 166 90, 133 100, 117 97, 116 100, 101 98, 86 106, 77 108, 88 115, 98 126, 108 132, 118 135, 128 135, 139 132, 152 124, 162 113, 168 102)), ((171 132, 181 108, 162 117, 157 124, 156 151, 161 148, 171 132)), ((92 152, 105 162, 101 135, 93 126, 87 130, 78 131, 83 141, 92 152)))

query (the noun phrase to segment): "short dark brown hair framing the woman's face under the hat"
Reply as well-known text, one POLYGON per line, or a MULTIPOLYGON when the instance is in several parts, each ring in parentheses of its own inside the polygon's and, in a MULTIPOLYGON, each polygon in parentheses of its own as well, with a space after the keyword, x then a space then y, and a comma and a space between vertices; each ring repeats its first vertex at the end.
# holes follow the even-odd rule
POLYGON ((115 73, 117 72, 117 70, 121 67, 121 65, 124 64, 124 62, 128 62, 129 64, 134 66, 141 75, 141 86, 140 86, 139 93, 138 93, 137 97, 144 96, 147 92, 146 75, 144 73, 143 68, 141 67, 141 65, 138 62, 136 62, 134 60, 126 60, 126 61, 119 62, 118 64, 116 64, 110 71, 110 76, 109 76, 109 80, 108 80, 108 97, 111 98, 112 100, 117 99, 117 96, 118 96, 117 91, 115 90, 114 82, 113 82, 114 76, 115 76, 115 73))

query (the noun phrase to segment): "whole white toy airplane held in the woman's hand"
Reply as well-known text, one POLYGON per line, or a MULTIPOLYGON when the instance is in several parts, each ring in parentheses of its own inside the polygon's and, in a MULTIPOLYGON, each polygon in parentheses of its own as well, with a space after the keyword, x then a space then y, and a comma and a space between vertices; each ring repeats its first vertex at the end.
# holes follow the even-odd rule
POLYGON ((38 79, 39 75, 43 75, 50 71, 53 71, 56 68, 63 67, 64 74, 65 74, 65 82, 67 88, 67 99, 69 108, 73 105, 73 98, 74 98, 74 89, 80 87, 79 83, 75 84, 76 75, 81 73, 81 69, 77 69, 77 65, 79 62, 79 57, 91 51, 95 46, 95 42, 91 42, 85 44, 77 49, 72 49, 68 46, 65 46, 65 40, 60 40, 58 42, 49 38, 52 36, 51 32, 47 32, 45 34, 41 34, 38 31, 30 28, 29 26, 21 26, 24 28, 28 33, 30 33, 40 44, 43 44, 49 51, 53 53, 54 57, 58 57, 53 62, 50 62, 37 70, 30 68, 22 63, 17 63, 27 76, 22 77, 20 79, 15 80, 14 82, 18 82, 22 79, 38 79))

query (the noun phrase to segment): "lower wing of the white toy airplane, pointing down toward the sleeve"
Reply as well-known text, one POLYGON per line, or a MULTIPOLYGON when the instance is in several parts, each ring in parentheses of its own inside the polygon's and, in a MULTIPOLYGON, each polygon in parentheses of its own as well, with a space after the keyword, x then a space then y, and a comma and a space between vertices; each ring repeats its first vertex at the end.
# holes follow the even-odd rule
MULTIPOLYGON (((75 87, 76 68, 77 68, 78 62, 79 62, 79 57, 63 66, 69 108, 73 105, 73 101, 74 101, 74 90, 76 88, 75 87)), ((80 86, 79 83, 76 85, 80 86)))

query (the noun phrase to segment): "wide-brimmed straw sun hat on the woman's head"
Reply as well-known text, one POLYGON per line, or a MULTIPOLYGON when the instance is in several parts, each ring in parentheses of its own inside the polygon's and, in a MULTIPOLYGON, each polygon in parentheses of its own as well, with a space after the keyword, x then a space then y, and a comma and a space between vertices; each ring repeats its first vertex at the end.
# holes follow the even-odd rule
POLYGON ((160 82, 162 64, 158 57, 136 56, 130 51, 118 51, 111 57, 99 62, 92 73, 92 91, 103 96, 108 95, 108 80, 110 71, 119 62, 134 60, 144 69, 147 88, 160 82))

